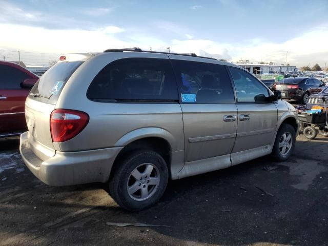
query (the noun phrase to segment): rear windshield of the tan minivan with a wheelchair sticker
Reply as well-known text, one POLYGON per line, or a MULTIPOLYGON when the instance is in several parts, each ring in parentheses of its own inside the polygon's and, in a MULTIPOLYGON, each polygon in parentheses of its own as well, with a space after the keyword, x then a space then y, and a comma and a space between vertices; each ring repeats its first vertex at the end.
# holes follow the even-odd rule
POLYGON ((47 104, 56 104, 67 80, 84 61, 64 61, 45 72, 33 86, 29 97, 47 104))

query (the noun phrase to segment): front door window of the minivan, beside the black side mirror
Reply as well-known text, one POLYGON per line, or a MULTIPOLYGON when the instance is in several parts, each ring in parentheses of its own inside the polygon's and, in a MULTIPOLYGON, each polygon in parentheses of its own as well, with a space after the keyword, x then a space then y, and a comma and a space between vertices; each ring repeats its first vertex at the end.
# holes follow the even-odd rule
POLYGON ((268 89, 250 73, 239 68, 229 67, 233 78, 238 103, 254 103, 256 95, 269 96, 268 89))

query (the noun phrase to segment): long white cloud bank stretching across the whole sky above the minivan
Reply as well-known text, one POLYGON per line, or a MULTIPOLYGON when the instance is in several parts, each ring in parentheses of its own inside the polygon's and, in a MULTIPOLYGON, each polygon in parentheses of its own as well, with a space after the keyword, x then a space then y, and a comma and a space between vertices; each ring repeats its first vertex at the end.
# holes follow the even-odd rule
MULTIPOLYGON (((140 47, 149 50, 166 51, 171 47, 176 53, 196 53, 202 56, 224 58, 236 61, 240 58, 251 61, 273 61, 291 65, 313 66, 328 62, 328 24, 304 32, 285 42, 268 42, 262 38, 243 40, 242 43, 219 43, 214 40, 191 36, 188 30, 173 23, 161 23, 159 32, 126 29, 118 26, 105 26, 93 30, 47 29, 15 24, 0 24, 2 33, 0 49, 28 50, 45 53, 67 53, 103 51, 109 48, 140 47), (162 30, 175 38, 162 38, 162 30), (22 38, 38 33, 37 38, 22 38), (160 33, 160 34, 159 34, 160 33), (119 34, 119 35, 117 35, 119 34)), ((193 33, 193 32, 192 32, 193 33)))

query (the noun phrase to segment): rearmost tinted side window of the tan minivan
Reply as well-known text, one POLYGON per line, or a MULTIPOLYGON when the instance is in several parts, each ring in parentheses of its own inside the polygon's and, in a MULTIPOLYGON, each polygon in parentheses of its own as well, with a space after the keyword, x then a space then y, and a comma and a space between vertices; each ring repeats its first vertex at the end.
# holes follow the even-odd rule
POLYGON ((104 67, 87 91, 91 100, 178 101, 169 59, 123 58, 104 67))

